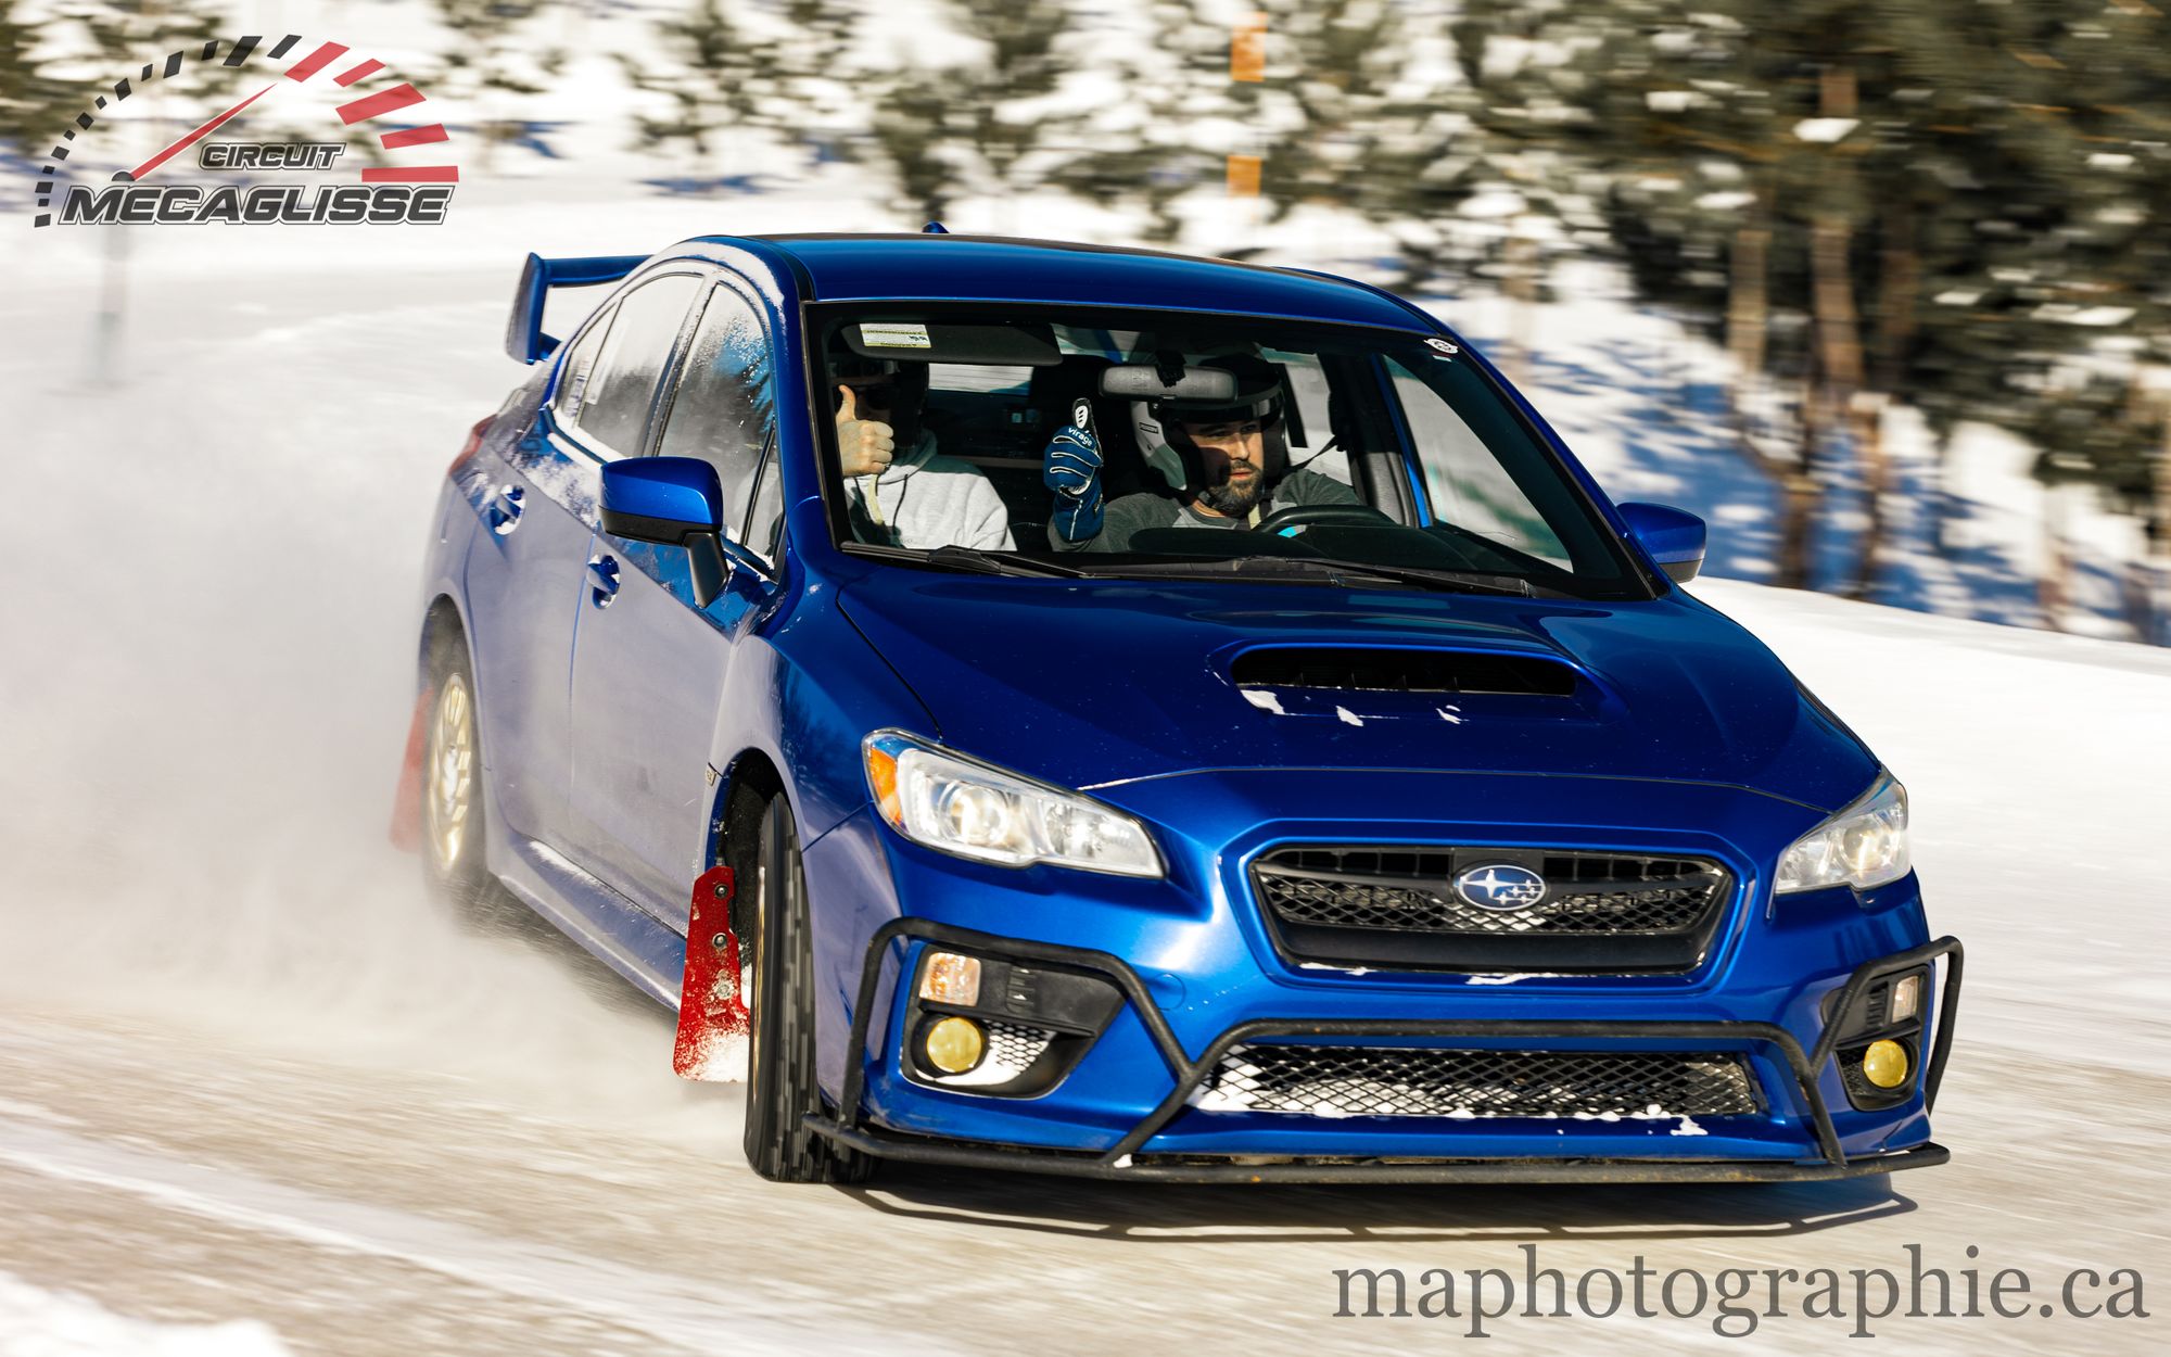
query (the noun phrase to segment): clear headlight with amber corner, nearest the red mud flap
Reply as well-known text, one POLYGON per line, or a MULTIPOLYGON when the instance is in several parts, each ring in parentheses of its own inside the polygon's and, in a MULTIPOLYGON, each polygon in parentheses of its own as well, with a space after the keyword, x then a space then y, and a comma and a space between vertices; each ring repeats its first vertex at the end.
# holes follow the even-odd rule
POLYGON ((1125 877, 1161 875, 1146 827, 1099 801, 899 730, 877 730, 860 749, 881 819, 929 849, 1003 866, 1053 862, 1125 877))

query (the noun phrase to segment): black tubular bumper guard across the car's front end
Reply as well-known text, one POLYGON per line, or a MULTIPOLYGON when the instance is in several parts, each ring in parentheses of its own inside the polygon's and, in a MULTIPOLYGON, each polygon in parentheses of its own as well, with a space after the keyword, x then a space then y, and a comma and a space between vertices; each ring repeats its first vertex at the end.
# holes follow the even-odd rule
MULTIPOLYGON (((1146 984, 1118 957, 1083 947, 1059 947, 1053 942, 1023 942, 999 938, 973 929, 949 927, 929 918, 892 918, 881 925, 860 971, 860 1003, 851 1014, 851 1057, 845 1066, 842 1103, 836 1116, 810 1114, 805 1127, 836 1144, 910 1164, 947 1164, 953 1168, 1005 1168, 1023 1172, 1055 1172, 1094 1179, 1140 1179, 1161 1183, 1800 1183, 1821 1179, 1852 1179, 1902 1168, 1928 1168, 1952 1159, 1952 1151, 1924 1142, 1906 1151, 1865 1155, 1850 1159, 1832 1129, 1832 1114, 1824 1105, 1817 1077, 1832 1062, 1839 1047, 1839 1018, 1854 1010, 1863 990, 1887 975, 1910 971, 1950 955, 1945 986, 1937 1010, 1937 1040, 1924 1068, 1924 1109, 1937 1103, 1937 1086, 1945 1075, 1945 1057, 1952 1055, 1952 1023, 1960 1007, 1960 940, 1939 938, 1889 957, 1863 962, 1839 990, 1839 1001, 1830 1007, 1834 1020, 1826 1023, 1817 1047, 1808 1053, 1791 1031, 1776 1023, 1591 1023, 1591 1020, 1383 1020, 1383 1018, 1253 1018, 1222 1031, 1207 1044, 1198 1060, 1183 1053, 1183 1042, 1168 1027, 1166 1014, 1153 1003, 1146 984), (875 999, 881 988, 881 960, 894 938, 925 938, 964 951, 990 951, 1005 957, 1025 957, 1057 966, 1075 966, 1109 977, 1129 999, 1138 1018, 1146 1025, 1161 1060, 1175 1075, 1175 1088, 1161 1099, 1142 1123, 1118 1140, 1112 1149, 1055 1151, 1038 1146, 1005 1146, 960 1140, 936 1140, 907 1136, 881 1127, 862 1125, 862 1101, 866 1094, 868 1027, 873 1025, 875 999), (1641 1038, 1641 1040, 1728 1040, 1763 1042, 1787 1060, 1802 1103, 1808 1107, 1817 1138, 1817 1159, 1409 1159, 1409 1157, 1281 1157, 1270 1164, 1248 1162, 1250 1157, 1224 1155, 1146 1155, 1135 1159, 1140 1146, 1157 1136, 1183 1112, 1192 1090, 1220 1066, 1222 1055, 1246 1040, 1261 1036, 1415 1036, 1415 1038, 1641 1038)), ((899 973, 903 984, 903 973, 899 973)))

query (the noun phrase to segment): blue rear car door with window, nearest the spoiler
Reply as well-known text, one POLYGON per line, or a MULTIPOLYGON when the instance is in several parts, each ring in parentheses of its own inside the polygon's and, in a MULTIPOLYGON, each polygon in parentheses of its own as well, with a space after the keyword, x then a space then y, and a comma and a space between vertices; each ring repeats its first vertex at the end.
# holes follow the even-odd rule
POLYGON ((543 404, 491 467, 478 506, 488 532, 467 556, 486 771, 506 827, 543 842, 567 832, 567 658, 595 532, 593 467, 558 426, 577 419, 617 315, 597 308, 562 350, 543 404))

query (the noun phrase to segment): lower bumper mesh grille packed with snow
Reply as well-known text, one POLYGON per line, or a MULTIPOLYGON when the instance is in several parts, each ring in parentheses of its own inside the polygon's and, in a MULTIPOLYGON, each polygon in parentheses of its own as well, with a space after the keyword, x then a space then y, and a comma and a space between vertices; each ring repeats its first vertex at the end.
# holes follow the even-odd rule
POLYGON ((1437 1051, 1420 1047, 1231 1049, 1192 1105, 1305 1116, 1680 1118, 1756 1112, 1730 1053, 1437 1051))

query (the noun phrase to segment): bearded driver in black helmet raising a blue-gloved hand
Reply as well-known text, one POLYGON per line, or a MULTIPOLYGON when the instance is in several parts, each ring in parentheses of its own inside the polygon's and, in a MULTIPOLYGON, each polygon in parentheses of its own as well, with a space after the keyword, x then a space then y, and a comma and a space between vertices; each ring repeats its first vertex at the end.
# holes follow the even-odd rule
POLYGON ((1064 426, 1040 456, 1040 478, 1055 491, 1049 541, 1057 551, 1129 551, 1131 536, 1151 528, 1257 528, 1294 504, 1361 504, 1357 493, 1318 471, 1290 471, 1283 443, 1281 369, 1250 354, 1207 358, 1235 376, 1229 400, 1157 400, 1140 421, 1140 445, 1159 436, 1146 462, 1181 499, 1151 491, 1101 502, 1101 445, 1092 432, 1064 426), (1170 475, 1181 467, 1179 475, 1170 475))

